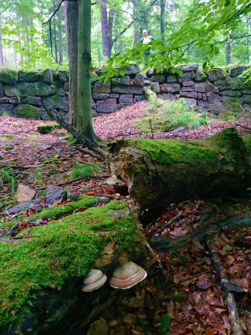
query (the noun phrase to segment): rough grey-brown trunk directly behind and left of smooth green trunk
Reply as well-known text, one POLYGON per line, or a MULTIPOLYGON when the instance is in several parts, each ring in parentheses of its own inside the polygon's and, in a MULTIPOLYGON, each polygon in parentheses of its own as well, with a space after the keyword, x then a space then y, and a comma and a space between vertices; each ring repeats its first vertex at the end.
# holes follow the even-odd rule
POLYGON ((69 51, 69 122, 77 128, 78 93, 78 3, 67 1, 67 28, 69 51))

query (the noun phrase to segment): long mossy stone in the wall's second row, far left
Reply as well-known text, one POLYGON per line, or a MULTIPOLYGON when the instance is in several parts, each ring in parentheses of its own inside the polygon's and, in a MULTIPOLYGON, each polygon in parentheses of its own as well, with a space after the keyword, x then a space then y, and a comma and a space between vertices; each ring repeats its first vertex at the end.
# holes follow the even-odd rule
POLYGON ((55 89, 40 81, 22 82, 15 86, 4 85, 4 93, 9 96, 29 95, 29 96, 49 96, 55 94, 55 89))

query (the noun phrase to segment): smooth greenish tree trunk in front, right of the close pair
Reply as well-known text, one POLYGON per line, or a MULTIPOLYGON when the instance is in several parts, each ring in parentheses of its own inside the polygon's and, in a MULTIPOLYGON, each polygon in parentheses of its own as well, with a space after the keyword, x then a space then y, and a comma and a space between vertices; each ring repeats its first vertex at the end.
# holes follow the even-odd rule
POLYGON ((77 129, 92 142, 97 137, 91 109, 91 0, 78 2, 78 114, 77 129))

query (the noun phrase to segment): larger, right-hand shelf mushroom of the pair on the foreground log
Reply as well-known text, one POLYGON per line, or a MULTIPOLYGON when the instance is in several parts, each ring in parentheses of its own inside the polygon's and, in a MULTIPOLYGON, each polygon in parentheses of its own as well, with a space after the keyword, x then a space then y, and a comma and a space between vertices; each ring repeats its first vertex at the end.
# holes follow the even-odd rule
POLYGON ((147 276, 146 271, 134 262, 126 262, 115 269, 109 281, 114 288, 131 288, 144 280, 147 276))

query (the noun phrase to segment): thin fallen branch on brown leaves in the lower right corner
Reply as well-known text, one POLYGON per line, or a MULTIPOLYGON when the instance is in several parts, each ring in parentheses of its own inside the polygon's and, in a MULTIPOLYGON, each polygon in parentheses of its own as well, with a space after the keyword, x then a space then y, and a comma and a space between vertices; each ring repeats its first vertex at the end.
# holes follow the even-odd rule
POLYGON ((228 290, 228 286, 229 286, 229 281, 227 278, 226 274, 222 274, 222 266, 221 266, 221 261, 218 258, 218 256, 215 254, 215 251, 213 248, 210 247, 210 240, 208 235, 205 236, 205 242, 206 245, 208 247, 208 249, 211 252, 212 258, 214 260, 215 263, 215 268, 216 268, 216 273, 217 276, 221 282, 221 287, 224 291, 224 294, 227 298, 227 302, 228 302, 228 311, 229 311, 229 318, 230 318, 230 322, 232 325, 232 331, 235 335, 243 335, 243 331, 242 331, 242 326, 241 326, 241 321, 239 318, 239 314, 238 314, 238 308, 235 302, 235 298, 233 293, 229 292, 228 290))

